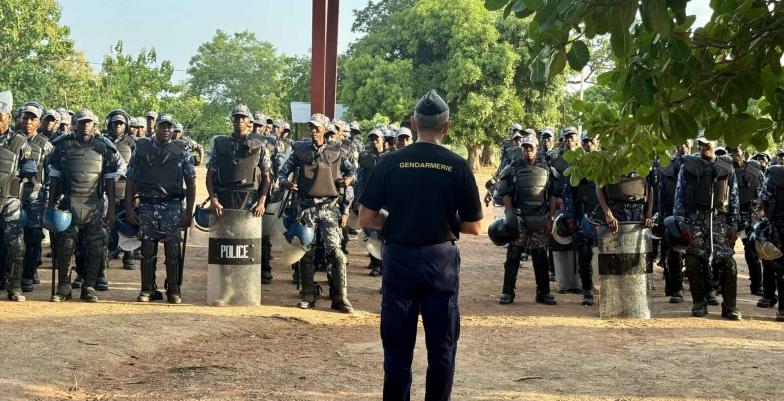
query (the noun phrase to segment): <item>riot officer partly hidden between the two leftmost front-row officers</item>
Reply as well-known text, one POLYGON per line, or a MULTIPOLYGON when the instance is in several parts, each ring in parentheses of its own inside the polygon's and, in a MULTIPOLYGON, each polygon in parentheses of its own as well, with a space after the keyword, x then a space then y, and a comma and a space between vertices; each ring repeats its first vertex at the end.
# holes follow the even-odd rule
MULTIPOLYGON (((60 113, 50 110, 45 115, 50 114, 59 116, 60 113)), ((44 134, 38 133, 37 130, 27 129, 31 128, 29 124, 25 128, 23 133, 27 136, 27 144, 30 146, 30 159, 36 165, 35 175, 25 179, 22 184, 22 205, 27 212, 27 226, 24 228, 25 257, 22 291, 29 292, 33 290, 33 284, 39 282, 36 268, 41 261, 41 242, 44 239, 41 217, 47 197, 45 167, 47 158, 54 147, 44 134)))

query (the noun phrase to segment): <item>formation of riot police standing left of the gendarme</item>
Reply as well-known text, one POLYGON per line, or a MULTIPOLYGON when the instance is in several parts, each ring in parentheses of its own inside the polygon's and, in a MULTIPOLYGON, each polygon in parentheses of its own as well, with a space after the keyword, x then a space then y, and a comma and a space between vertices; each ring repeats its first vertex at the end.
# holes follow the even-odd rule
MULTIPOLYGON (((210 215, 246 210, 264 216, 272 227, 261 241, 262 283, 272 280, 270 255, 277 235, 281 259, 292 264, 292 280, 302 285, 298 306, 315 306, 321 287, 314 273, 320 269, 328 273, 332 309, 351 312, 345 254, 349 236, 359 229, 358 195, 382 155, 411 143, 411 131, 379 125, 363 141, 356 122, 316 114, 309 137, 292 141, 283 120, 251 113, 244 105, 236 106, 231 117, 233 133, 211 140, 209 197, 196 205, 194 166, 205 152, 183 135, 171 114, 132 117, 117 109, 101 126, 87 109, 74 113, 37 102, 14 109, 10 92, 0 94, 0 249, 5 253, 0 257, 7 260, 0 284, 8 299, 24 301, 24 293, 40 283, 37 267, 47 230, 53 302, 70 299, 72 288, 81 289, 81 299, 97 301, 98 291, 109 288, 105 270, 110 258, 122 258, 125 269, 141 261, 139 302, 163 299, 156 284, 162 242, 165 295, 180 303, 188 228, 193 223, 208 231, 210 215), (283 228, 275 231, 277 224, 283 228)), ((370 275, 380 276, 378 232, 359 235, 370 250, 370 275)), ((247 256, 230 252, 224 256, 247 256)))

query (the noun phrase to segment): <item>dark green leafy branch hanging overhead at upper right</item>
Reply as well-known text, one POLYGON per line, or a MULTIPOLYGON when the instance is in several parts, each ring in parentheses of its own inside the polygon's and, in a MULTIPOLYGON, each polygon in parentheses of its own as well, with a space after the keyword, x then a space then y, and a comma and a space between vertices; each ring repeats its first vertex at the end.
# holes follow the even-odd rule
POLYGON ((612 104, 575 102, 603 151, 576 152, 573 182, 603 184, 676 144, 706 136, 726 145, 767 149, 784 140, 784 2, 711 0, 702 27, 688 0, 485 0, 485 8, 529 18, 531 80, 545 82, 566 66, 591 60, 588 41, 608 35, 613 68, 597 84, 612 104))

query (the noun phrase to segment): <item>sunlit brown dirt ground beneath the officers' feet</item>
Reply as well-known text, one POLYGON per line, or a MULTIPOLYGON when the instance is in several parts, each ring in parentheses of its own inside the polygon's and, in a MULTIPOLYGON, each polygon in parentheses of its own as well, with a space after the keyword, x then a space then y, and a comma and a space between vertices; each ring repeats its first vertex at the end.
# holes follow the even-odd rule
MULTIPOLYGON (((784 399, 784 324, 774 309, 755 306, 740 254, 743 321, 721 319, 719 307, 693 318, 688 301, 667 303, 660 271, 653 319, 630 321, 600 320, 579 295, 535 304, 530 262, 515 303, 499 305, 503 248, 486 235, 460 246, 455 400, 784 399)), ((100 303, 52 304, 45 259, 28 302, 0 302, 0 400, 380 399, 380 279, 367 275, 357 241, 349 249, 351 316, 331 312, 326 299, 315 310, 295 308, 291 270, 280 263, 263 287, 263 306, 205 306, 206 248, 196 244, 188 247, 185 304, 135 303, 139 271, 119 261, 100 303)), ((423 397, 423 344, 420 329, 414 399, 423 397)))

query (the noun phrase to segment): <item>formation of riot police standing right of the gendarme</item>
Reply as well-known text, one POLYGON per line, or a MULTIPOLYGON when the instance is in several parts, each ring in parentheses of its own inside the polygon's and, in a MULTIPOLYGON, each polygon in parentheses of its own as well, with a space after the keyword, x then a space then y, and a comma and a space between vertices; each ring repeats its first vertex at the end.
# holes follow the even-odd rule
MULTIPOLYGON (((771 163, 767 153, 747 157, 742 149, 717 147, 700 133, 698 152, 691 154, 690 140, 674 149, 666 166, 655 160, 645 176, 632 172, 604 187, 586 179, 572 186, 564 179, 569 167, 564 153, 579 146, 596 151, 599 144, 573 127, 561 130, 555 147, 554 136, 550 128, 537 137, 533 129, 514 124, 502 145, 497 174, 486 184, 485 201, 503 210, 488 230, 496 245, 506 246, 501 304, 515 299, 521 255, 533 262, 536 302, 547 305, 556 304, 551 281, 558 282, 560 293, 581 293, 582 304, 591 306, 595 264, 599 277, 612 283, 613 276, 635 271, 650 277, 658 259, 670 303, 683 302, 685 268, 694 316, 721 305, 721 316, 739 320, 733 255, 740 236, 750 292, 761 297, 757 306, 776 305, 777 291, 780 296, 784 290, 784 151, 771 163), (626 241, 631 249, 619 249, 624 245, 618 236, 631 233, 645 237, 626 241)), ((626 277, 623 285, 634 285, 626 277)), ((643 291, 650 288, 649 280, 642 283, 643 291)), ((626 299, 620 303, 633 296, 623 289, 621 295, 626 299)), ((612 296, 607 298, 611 302, 612 296)), ((777 320, 784 321, 778 303, 777 320)), ((616 315, 633 315, 630 309, 636 307, 622 305, 616 315)))

